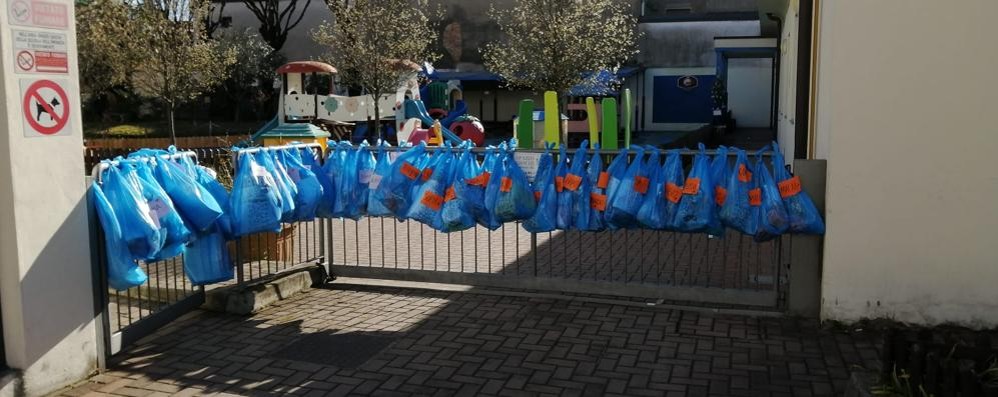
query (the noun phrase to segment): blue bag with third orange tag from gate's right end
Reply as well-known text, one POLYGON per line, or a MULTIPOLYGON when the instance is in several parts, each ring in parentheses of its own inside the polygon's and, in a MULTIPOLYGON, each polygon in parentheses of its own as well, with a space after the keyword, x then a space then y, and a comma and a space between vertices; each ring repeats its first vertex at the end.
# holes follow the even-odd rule
POLYGON ((759 195, 754 191, 754 172, 744 150, 735 151, 735 163, 728 171, 725 184, 726 197, 721 212, 721 223, 747 235, 755 235, 758 223, 759 195), (750 191, 754 191, 750 194, 750 191))

